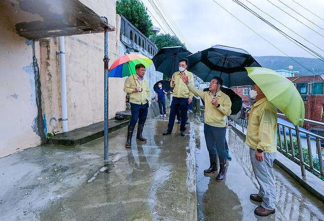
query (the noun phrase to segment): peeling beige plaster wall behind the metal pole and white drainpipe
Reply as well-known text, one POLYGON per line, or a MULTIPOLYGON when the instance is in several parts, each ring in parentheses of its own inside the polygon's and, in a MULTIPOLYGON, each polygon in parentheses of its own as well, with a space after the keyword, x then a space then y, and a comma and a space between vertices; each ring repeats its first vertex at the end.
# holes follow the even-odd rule
MULTIPOLYGON (((116 27, 115 1, 108 2, 109 5, 100 7, 100 10, 105 10, 97 13, 108 17, 114 15, 114 21, 109 19, 109 23, 116 27)), ((109 32, 110 65, 119 57, 118 41, 119 28, 109 32)), ((103 44, 103 33, 65 37, 69 130, 103 121, 103 44)), ((58 38, 40 39, 43 114, 46 115, 48 131, 52 131, 55 125, 55 131, 62 132, 61 122, 52 120, 50 125, 51 118, 61 118, 60 63, 55 53, 58 50, 58 38)), ((109 78, 109 118, 125 110, 124 81, 122 78, 109 78)))

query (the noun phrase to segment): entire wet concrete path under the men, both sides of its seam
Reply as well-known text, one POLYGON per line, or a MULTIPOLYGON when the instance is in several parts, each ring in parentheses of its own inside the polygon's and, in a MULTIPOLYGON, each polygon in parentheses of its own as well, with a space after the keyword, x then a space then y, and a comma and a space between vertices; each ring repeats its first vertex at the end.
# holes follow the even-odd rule
POLYGON ((256 217, 249 195, 258 185, 243 139, 228 130, 232 160, 218 183, 203 175, 203 125, 191 123, 185 137, 177 124, 162 136, 166 125, 148 120, 148 142, 133 139, 131 149, 126 128, 110 134, 107 169, 102 138, 0 158, 0 221, 324 221, 324 205, 278 167, 277 212, 256 217))

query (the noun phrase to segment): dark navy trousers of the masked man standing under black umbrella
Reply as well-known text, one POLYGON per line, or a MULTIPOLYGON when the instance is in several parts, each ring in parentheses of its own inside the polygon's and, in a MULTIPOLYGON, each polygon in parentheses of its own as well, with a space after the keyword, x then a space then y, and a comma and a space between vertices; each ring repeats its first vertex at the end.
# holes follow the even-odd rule
POLYGON ((185 119, 184 121, 181 121, 180 131, 186 130, 186 119, 187 119, 187 112, 188 112, 188 98, 180 98, 180 97, 173 96, 171 107, 170 107, 169 123, 167 125, 167 129, 169 131, 172 131, 172 129, 173 129, 175 116, 177 115, 179 108, 180 108, 181 119, 185 119))

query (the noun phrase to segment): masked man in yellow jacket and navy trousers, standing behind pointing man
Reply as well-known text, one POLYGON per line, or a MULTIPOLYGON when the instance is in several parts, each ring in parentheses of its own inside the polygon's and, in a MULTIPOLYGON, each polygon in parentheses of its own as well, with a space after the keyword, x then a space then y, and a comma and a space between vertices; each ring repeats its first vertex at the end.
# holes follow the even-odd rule
POLYGON ((170 116, 169 123, 167 125, 167 130, 163 132, 163 135, 171 134, 175 116, 178 109, 180 108, 181 113, 181 124, 180 124, 180 133, 181 136, 185 136, 186 130, 186 119, 188 118, 188 108, 189 104, 193 101, 194 94, 189 91, 186 84, 181 80, 181 74, 186 74, 188 82, 191 85, 194 85, 194 75, 192 72, 187 70, 188 60, 181 59, 179 61, 179 71, 173 73, 172 80, 170 83, 171 88, 173 88, 173 98, 170 107, 170 116))

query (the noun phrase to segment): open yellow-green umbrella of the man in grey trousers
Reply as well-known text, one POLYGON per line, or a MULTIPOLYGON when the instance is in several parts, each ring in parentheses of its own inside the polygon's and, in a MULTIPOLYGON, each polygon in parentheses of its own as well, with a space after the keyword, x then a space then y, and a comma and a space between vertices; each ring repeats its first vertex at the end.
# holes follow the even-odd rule
POLYGON ((304 101, 294 84, 274 70, 264 67, 245 67, 248 76, 259 86, 270 103, 283 112, 294 126, 303 126, 304 101))

